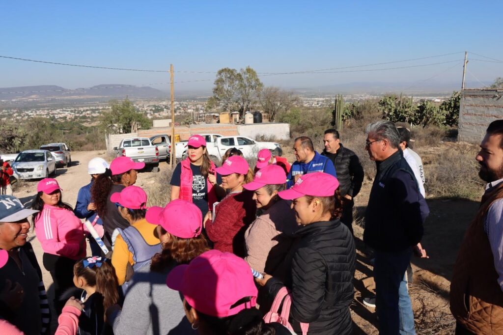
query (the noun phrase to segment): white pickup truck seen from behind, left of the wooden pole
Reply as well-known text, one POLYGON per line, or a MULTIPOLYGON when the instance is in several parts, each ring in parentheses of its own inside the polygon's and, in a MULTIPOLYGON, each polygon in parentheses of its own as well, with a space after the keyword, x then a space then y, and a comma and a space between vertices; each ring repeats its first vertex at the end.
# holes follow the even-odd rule
POLYGON ((117 157, 126 156, 145 164, 159 163, 159 148, 147 137, 125 138, 118 147, 114 147, 114 150, 117 157))

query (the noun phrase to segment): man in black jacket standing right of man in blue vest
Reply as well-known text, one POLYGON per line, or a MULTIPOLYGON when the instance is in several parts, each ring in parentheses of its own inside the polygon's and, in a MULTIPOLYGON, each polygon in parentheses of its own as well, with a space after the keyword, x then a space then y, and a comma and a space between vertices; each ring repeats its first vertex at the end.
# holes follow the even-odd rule
POLYGON ((336 167, 339 191, 344 197, 343 215, 341 222, 344 223, 353 234, 353 206, 355 197, 360 192, 363 183, 363 167, 360 159, 350 149, 343 146, 339 132, 335 129, 325 130, 323 138, 325 149, 321 153, 327 156, 336 167))

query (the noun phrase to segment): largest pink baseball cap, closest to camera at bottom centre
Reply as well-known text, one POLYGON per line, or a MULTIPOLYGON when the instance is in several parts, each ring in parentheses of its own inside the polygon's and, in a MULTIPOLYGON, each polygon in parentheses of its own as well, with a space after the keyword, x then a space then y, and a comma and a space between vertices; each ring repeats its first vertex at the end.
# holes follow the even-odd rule
POLYGON ((249 265, 219 250, 209 250, 189 265, 176 267, 167 275, 166 285, 180 291, 198 312, 216 317, 254 307, 258 294, 249 265))

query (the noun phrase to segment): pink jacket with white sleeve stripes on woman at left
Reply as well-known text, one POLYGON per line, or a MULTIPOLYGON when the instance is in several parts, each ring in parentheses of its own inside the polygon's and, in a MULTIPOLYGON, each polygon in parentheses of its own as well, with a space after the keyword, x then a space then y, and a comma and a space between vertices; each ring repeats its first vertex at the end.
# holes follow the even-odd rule
POLYGON ((44 253, 72 260, 86 257, 82 222, 70 210, 44 205, 35 220, 35 232, 44 253))

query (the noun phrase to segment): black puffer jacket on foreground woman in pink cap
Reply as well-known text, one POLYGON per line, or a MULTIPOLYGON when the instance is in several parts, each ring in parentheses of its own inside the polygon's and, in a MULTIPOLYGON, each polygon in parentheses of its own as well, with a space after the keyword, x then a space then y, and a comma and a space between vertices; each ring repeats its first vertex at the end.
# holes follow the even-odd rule
MULTIPOLYGON (((339 219, 311 223, 299 228, 299 242, 292 249, 290 323, 302 333, 299 322, 309 323, 308 334, 351 334, 349 305, 353 301, 355 242, 339 219)), ((271 278, 266 288, 274 298, 281 287, 271 278)))

